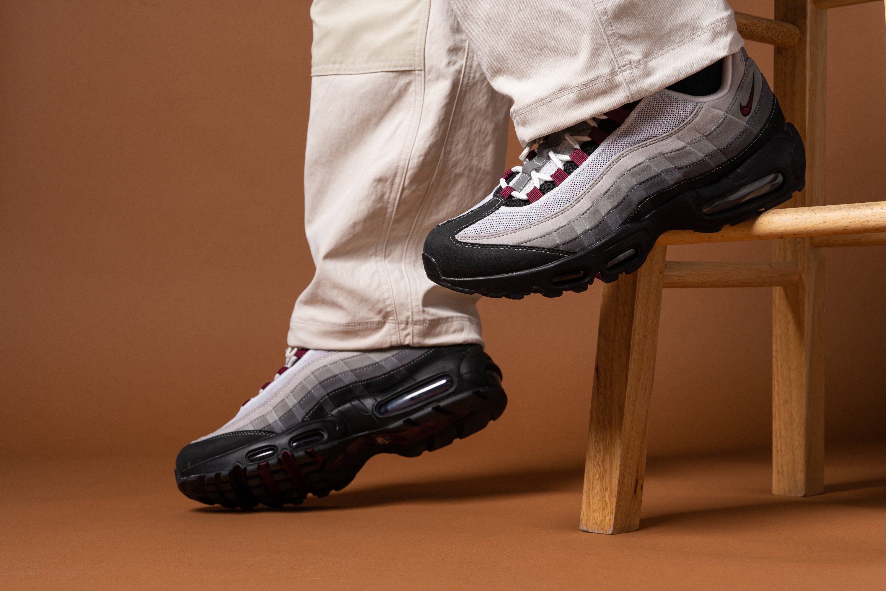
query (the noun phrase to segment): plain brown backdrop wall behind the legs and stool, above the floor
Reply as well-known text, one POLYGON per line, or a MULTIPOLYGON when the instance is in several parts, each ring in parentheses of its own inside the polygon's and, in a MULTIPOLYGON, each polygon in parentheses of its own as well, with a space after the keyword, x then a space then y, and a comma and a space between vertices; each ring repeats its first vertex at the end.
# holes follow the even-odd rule
MULTIPOLYGON (((772 16, 771 2, 734 7, 772 16)), ((883 5, 833 11, 829 27, 828 203, 880 200, 883 5)), ((304 0, 0 3, 4 455, 165 455, 171 472, 279 367, 313 273, 310 40, 304 0)), ((748 50, 771 76, 772 49, 748 50)), ((884 436, 884 271, 886 248, 828 252, 832 442, 884 436)), ((451 459, 581 461, 600 290, 481 303, 510 404, 451 459)), ((650 454, 768 445, 770 322, 766 289, 665 292, 650 454)))

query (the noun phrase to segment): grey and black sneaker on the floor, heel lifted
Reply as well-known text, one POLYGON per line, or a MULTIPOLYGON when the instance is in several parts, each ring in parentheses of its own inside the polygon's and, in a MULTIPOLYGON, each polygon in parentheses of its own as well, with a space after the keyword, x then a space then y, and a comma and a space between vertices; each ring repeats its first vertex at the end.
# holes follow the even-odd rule
POLYGON ((373 455, 421 455, 478 432, 507 403, 478 345, 299 349, 228 424, 179 452, 175 479, 207 505, 298 504, 341 490, 373 455))

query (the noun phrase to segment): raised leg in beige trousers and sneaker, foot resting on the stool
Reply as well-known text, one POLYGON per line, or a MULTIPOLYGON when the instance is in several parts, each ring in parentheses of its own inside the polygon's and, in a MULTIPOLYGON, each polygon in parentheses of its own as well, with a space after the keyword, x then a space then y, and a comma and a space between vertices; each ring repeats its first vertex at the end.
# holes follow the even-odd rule
POLYGON ((452 2, 527 149, 431 230, 437 284, 583 292, 640 268, 668 230, 715 232, 803 189, 803 143, 725 2, 452 2))

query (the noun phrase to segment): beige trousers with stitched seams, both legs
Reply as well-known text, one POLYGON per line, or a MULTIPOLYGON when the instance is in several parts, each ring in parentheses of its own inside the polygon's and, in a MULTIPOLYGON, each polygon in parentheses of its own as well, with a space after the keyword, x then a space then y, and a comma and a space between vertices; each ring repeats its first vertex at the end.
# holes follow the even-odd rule
POLYGON ((725 0, 314 0, 305 227, 290 346, 479 343, 478 296, 431 283, 424 237, 521 143, 742 47, 725 0))

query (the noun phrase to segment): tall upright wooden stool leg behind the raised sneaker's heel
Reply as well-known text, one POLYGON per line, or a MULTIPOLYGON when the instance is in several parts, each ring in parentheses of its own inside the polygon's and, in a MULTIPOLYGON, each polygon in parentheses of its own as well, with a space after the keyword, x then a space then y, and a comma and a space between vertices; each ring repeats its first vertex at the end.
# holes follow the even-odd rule
MULTIPOLYGON (((775 18, 801 41, 775 49, 775 95, 806 147, 806 188, 787 206, 825 203, 825 79, 828 12, 812 0, 775 0, 775 18)), ((791 261, 800 283, 773 288, 773 493, 824 490, 824 254, 809 238, 776 240, 775 261, 791 261)))

